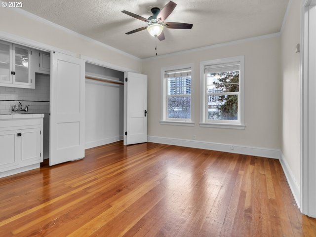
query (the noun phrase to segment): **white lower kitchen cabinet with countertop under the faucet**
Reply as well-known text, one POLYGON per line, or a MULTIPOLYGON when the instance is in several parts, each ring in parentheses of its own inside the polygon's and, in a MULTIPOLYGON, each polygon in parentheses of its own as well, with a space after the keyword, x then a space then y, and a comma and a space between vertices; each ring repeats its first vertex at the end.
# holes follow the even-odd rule
POLYGON ((0 118, 0 177, 39 168, 43 161, 43 115, 0 117, 7 117, 0 118))

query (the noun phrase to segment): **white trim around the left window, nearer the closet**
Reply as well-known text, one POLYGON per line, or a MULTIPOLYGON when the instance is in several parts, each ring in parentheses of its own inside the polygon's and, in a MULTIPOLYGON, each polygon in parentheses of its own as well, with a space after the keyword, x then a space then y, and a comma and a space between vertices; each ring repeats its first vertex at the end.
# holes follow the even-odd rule
POLYGON ((175 65, 175 66, 169 66, 169 67, 163 67, 160 69, 160 75, 161 75, 161 88, 160 88, 160 121, 159 123, 162 125, 182 125, 182 126, 194 126, 194 64, 182 64, 182 65, 175 65), (191 119, 185 119, 185 118, 167 118, 167 86, 166 86, 166 80, 164 78, 164 72, 165 71, 171 71, 171 70, 178 70, 181 68, 191 68, 191 119))

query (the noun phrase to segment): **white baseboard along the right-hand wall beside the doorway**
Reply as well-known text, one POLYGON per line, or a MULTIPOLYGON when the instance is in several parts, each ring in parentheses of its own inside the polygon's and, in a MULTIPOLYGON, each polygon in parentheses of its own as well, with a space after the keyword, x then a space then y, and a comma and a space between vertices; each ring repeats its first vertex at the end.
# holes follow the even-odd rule
POLYGON ((290 169, 290 166, 288 165, 286 159, 283 156, 283 153, 280 151, 280 163, 283 168, 283 172, 285 174, 285 177, 287 179, 288 185, 290 186, 290 189, 292 191, 293 197, 296 201, 296 205, 298 208, 301 208, 301 192, 300 192, 300 186, 297 184, 294 175, 290 169))

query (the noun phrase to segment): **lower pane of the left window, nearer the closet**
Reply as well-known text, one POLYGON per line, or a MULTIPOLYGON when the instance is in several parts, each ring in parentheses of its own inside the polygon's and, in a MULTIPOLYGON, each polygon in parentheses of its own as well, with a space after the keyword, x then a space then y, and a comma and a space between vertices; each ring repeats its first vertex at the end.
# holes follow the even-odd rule
POLYGON ((191 96, 168 97, 168 118, 191 118, 191 96))

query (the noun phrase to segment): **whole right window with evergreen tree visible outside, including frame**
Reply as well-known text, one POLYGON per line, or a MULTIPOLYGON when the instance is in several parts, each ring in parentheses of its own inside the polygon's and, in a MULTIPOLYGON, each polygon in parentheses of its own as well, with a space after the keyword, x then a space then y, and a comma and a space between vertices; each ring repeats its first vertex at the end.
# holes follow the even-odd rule
POLYGON ((244 128, 244 56, 201 62, 200 126, 244 128))

